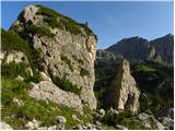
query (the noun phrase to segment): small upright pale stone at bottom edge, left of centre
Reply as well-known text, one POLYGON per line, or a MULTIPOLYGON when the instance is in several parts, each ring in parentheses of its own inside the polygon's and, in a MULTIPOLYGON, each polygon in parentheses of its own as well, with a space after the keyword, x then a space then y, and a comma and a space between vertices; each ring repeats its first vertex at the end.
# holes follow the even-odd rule
POLYGON ((57 130, 65 130, 67 120, 62 116, 57 116, 57 130))

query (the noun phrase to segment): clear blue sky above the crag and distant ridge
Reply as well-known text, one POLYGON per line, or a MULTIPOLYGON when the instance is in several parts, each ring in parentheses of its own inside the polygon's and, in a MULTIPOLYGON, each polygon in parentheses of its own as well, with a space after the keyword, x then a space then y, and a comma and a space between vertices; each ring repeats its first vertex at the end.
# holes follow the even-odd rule
POLYGON ((149 40, 174 34, 172 1, 2 1, 1 27, 9 29, 28 4, 43 4, 79 23, 89 23, 104 49, 122 38, 140 36, 149 40))

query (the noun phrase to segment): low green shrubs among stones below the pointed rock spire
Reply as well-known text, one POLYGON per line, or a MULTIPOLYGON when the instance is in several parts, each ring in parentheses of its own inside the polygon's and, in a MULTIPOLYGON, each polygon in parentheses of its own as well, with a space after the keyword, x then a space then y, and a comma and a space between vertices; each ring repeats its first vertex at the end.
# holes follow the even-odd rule
POLYGON ((122 112, 115 114, 107 111, 103 119, 105 124, 116 126, 120 124, 129 128, 129 130, 148 130, 144 128, 139 120, 129 110, 124 110, 122 112))

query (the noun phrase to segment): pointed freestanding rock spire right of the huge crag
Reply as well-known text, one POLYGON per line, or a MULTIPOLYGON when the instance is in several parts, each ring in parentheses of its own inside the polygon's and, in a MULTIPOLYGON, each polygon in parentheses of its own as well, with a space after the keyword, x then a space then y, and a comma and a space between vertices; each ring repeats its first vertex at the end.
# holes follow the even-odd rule
POLYGON ((115 109, 139 110, 140 92, 132 75, 129 62, 124 59, 118 68, 117 75, 106 92, 106 106, 115 109))

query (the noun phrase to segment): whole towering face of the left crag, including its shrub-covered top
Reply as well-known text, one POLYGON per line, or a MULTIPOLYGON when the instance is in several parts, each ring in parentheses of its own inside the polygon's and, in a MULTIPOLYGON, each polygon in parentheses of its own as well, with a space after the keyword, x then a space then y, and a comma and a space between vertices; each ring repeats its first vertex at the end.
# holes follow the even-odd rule
POLYGON ((45 7, 30 5, 19 15, 11 29, 28 39, 31 46, 39 51, 40 72, 52 80, 66 75, 82 87, 81 99, 91 109, 96 108, 93 93, 96 38, 88 26, 45 7), (49 10, 49 14, 46 10, 49 10))

